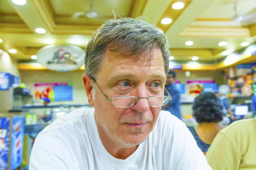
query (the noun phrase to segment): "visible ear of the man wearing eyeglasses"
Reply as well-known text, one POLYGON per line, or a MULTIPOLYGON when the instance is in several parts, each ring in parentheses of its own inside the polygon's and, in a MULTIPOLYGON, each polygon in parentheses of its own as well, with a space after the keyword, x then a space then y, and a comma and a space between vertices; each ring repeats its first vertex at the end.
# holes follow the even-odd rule
POLYGON ((83 74, 83 83, 86 95, 88 97, 88 102, 90 106, 94 106, 93 101, 93 79, 87 76, 87 74, 83 74))

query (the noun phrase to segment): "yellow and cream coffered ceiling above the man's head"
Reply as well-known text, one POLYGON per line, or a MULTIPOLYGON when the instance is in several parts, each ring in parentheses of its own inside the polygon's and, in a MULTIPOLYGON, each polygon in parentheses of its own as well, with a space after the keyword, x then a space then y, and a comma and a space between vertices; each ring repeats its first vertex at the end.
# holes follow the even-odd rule
POLYGON ((46 39, 85 49, 93 31, 113 18, 113 10, 121 16, 143 15, 162 28, 175 60, 188 61, 198 56, 199 61, 215 62, 225 57, 223 51, 244 48, 241 42, 256 42, 256 15, 242 22, 233 21, 235 2, 239 16, 256 14, 256 0, 26 0, 24 6, 0 0, 0 48, 16 49, 17 53, 10 55, 18 60, 31 60, 47 45, 46 39), (172 4, 178 1, 185 7, 175 10, 172 4), (91 3, 98 17, 74 17, 78 12, 90 11, 91 3), (172 23, 163 25, 165 17, 172 18, 172 23), (46 33, 38 34, 35 28, 44 28, 46 33), (75 40, 81 42, 76 44, 75 40), (186 41, 194 44, 186 46, 186 41), (227 45, 218 46, 221 41, 227 45))

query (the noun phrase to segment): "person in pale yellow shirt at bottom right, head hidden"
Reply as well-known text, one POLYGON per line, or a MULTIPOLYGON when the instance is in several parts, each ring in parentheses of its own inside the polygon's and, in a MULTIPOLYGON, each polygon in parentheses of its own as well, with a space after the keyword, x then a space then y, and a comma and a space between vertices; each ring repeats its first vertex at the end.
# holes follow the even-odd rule
POLYGON ((221 130, 207 150, 212 170, 256 170, 256 118, 221 130))

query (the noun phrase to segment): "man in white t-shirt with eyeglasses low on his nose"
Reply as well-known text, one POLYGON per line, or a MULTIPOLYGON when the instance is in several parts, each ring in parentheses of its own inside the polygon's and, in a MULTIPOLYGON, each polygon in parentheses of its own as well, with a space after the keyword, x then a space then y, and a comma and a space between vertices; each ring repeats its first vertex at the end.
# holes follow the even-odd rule
POLYGON ((94 108, 47 126, 29 170, 211 170, 192 134, 161 111, 169 68, 163 31, 140 18, 106 21, 85 51, 84 88, 94 108))

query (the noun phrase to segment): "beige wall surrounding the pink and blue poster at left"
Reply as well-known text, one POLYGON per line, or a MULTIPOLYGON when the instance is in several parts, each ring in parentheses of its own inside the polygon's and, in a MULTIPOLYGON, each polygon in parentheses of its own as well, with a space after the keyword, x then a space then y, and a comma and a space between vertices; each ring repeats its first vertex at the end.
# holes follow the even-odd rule
POLYGON ((52 105, 58 104, 88 104, 87 96, 84 91, 82 82, 83 70, 70 72, 57 71, 24 71, 20 70, 22 82, 28 88, 33 90, 33 85, 36 82, 72 82, 73 83, 73 101, 67 102, 52 102, 52 105))

